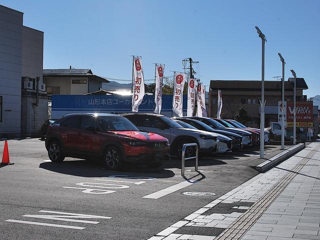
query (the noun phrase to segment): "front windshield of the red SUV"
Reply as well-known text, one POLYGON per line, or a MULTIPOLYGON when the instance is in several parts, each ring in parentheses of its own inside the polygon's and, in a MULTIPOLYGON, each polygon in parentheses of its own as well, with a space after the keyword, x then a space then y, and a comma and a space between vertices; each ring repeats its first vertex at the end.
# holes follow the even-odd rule
POLYGON ((98 116, 98 122, 105 131, 138 131, 139 129, 123 116, 98 116))

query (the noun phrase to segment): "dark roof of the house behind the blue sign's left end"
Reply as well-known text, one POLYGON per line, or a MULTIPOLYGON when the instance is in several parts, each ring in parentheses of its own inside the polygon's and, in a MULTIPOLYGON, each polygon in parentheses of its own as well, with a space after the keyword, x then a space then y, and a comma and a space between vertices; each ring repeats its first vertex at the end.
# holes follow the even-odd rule
POLYGON ((93 74, 91 69, 43 69, 43 76, 88 76, 101 82, 109 82, 106 78, 93 74))

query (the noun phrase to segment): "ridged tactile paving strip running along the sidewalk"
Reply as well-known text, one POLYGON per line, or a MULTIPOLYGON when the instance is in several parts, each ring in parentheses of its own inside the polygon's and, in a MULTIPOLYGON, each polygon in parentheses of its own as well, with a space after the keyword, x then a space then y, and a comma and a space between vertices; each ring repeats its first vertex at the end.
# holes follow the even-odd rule
POLYGON ((268 192, 260 197, 250 208, 241 216, 239 216, 231 225, 221 232, 214 240, 237 240, 240 239, 245 232, 256 222, 262 213, 271 205, 276 197, 284 190, 284 188, 302 169, 304 164, 312 157, 312 155, 320 148, 315 147, 311 150, 298 164, 296 164, 290 172, 285 174, 268 192))

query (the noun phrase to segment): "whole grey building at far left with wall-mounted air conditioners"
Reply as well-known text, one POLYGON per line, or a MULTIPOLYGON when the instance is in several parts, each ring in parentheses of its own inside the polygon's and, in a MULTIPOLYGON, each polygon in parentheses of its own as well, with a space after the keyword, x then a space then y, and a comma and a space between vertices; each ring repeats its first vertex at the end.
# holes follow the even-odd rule
POLYGON ((42 62, 43 32, 23 26, 23 12, 0 5, 0 137, 40 131, 47 118, 42 62))

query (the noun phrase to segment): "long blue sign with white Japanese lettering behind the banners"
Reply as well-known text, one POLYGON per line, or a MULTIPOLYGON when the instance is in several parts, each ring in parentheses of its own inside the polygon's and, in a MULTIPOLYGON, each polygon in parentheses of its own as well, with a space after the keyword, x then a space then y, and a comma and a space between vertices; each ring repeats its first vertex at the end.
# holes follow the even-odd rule
MULTIPOLYGON (((131 112, 131 96, 120 95, 52 95, 52 118, 60 118, 72 112, 104 112, 120 114, 131 112)), ((186 114, 187 98, 183 96, 183 115, 186 114)), ((154 96, 145 95, 138 112, 154 111, 154 96)), ((172 95, 162 96, 161 114, 175 116, 172 112, 172 95)))

